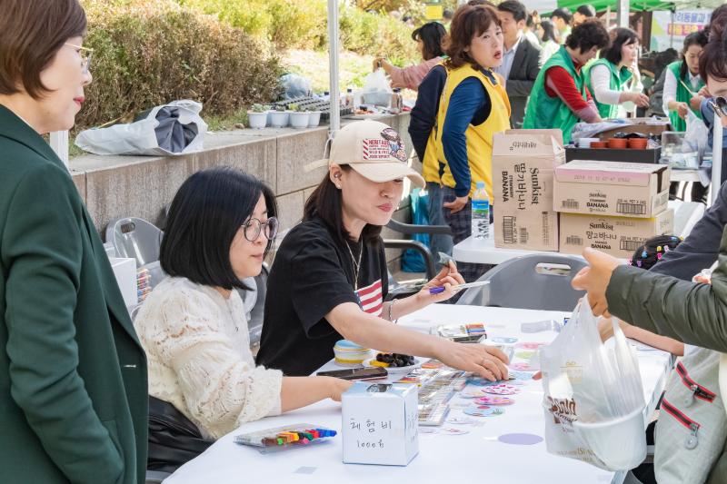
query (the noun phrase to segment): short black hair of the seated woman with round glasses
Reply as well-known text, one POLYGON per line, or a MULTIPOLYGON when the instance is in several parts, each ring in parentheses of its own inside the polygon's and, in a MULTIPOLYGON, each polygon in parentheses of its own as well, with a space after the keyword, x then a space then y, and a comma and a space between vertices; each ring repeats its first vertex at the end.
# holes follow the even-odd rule
POLYGON ((164 272, 204 286, 250 289, 234 274, 230 246, 261 194, 268 217, 276 216, 273 191, 252 175, 215 167, 187 178, 169 207, 159 252, 164 272))

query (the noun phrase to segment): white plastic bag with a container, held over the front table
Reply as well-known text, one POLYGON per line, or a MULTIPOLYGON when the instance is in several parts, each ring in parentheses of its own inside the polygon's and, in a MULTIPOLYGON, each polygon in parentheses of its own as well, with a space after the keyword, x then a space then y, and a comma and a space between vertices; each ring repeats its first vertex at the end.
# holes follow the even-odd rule
POLYGON ((632 469, 646 457, 639 363, 618 321, 601 342, 588 301, 541 349, 545 442, 555 455, 601 469, 632 469))

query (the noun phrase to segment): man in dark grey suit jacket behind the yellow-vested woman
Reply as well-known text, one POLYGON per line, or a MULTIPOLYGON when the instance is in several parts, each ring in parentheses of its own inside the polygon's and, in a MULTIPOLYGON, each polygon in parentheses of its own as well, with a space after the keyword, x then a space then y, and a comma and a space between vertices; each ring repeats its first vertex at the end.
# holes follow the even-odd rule
POLYGON ((505 0, 497 5, 497 16, 503 27, 503 64, 495 69, 505 79, 505 91, 510 98, 510 126, 520 128, 525 117, 525 105, 540 73, 540 45, 532 44, 523 28, 527 9, 517 0, 505 0))

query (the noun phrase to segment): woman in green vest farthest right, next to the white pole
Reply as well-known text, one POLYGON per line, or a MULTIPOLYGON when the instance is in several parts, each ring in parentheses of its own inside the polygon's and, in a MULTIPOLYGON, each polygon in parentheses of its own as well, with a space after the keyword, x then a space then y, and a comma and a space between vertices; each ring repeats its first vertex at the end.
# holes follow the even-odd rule
POLYGON ((686 117, 690 109, 702 119, 699 109, 702 98, 699 92, 704 87, 704 80, 699 74, 699 58, 706 44, 707 35, 704 31, 687 35, 684 39, 682 60, 666 66, 663 108, 664 113, 669 113, 674 131, 686 131, 686 117))

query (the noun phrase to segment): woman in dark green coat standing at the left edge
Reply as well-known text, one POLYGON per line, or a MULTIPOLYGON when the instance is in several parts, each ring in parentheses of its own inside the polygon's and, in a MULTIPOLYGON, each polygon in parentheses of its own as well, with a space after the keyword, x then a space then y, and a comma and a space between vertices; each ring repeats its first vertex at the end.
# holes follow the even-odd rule
POLYGON ((91 82, 77 0, 0 2, 0 482, 144 482, 146 361, 68 170, 91 82))

